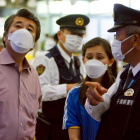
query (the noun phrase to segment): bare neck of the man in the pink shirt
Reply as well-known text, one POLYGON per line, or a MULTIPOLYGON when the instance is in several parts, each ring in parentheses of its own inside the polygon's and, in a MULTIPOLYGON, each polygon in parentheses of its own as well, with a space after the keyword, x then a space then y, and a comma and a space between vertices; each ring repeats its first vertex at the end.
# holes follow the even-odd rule
POLYGON ((13 60, 16 62, 16 64, 18 64, 19 72, 21 72, 23 70, 23 60, 24 60, 26 54, 16 53, 12 49, 7 49, 7 51, 10 54, 10 56, 13 58, 13 60))

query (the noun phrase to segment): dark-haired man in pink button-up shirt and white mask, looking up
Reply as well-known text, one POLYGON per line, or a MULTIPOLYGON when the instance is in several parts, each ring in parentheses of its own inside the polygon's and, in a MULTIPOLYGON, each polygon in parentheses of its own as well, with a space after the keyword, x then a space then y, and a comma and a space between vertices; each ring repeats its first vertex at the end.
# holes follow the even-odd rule
POLYGON ((40 23, 27 9, 4 25, 0 53, 0 140, 33 140, 41 90, 36 70, 25 55, 40 37, 40 23))

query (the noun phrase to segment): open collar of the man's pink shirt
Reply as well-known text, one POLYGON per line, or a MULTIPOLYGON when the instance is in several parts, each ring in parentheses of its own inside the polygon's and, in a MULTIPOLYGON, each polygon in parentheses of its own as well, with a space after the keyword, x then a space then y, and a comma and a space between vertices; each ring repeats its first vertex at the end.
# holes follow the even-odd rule
MULTIPOLYGON (((0 64, 15 64, 16 62, 13 60, 11 55, 4 48, 0 53, 0 64)), ((26 58, 23 60, 23 69, 29 69, 31 71, 31 67, 26 58)))

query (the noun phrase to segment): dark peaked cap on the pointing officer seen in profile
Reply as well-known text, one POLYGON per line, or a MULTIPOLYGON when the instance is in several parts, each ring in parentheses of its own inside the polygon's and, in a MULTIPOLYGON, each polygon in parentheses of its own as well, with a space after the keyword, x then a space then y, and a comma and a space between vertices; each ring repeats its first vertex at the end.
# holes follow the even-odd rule
POLYGON ((115 32, 116 29, 126 25, 140 26, 140 11, 126 7, 122 4, 114 4, 114 26, 108 32, 115 32))

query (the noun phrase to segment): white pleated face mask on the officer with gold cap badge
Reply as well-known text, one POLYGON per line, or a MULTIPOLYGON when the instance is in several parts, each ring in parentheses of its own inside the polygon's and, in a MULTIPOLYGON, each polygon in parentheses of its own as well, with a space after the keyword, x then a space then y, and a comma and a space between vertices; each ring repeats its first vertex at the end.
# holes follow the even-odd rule
POLYGON ((81 44, 82 44, 82 37, 80 37, 78 35, 65 35, 65 36, 66 36, 65 43, 62 42, 62 40, 60 40, 63 43, 63 46, 69 52, 76 52, 78 50, 78 48, 81 46, 81 44))

